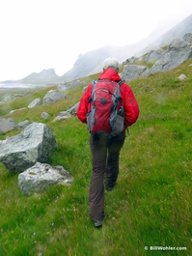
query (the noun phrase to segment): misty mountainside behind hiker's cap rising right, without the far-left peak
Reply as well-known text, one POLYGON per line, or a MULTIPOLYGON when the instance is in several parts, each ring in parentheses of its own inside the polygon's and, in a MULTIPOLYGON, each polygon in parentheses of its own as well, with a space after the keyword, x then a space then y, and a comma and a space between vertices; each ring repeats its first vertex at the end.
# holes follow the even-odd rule
MULTIPOLYGON (((129 44, 123 47, 105 46, 94 51, 79 55, 73 68, 62 75, 63 79, 76 79, 82 76, 102 71, 102 64, 109 56, 116 57, 120 63, 132 56, 142 56, 143 54, 158 47, 170 44, 176 38, 182 38, 186 33, 192 33, 192 14, 178 23, 171 30, 156 38, 153 42, 152 35, 138 43, 129 44)), ((158 33, 156 33, 158 35, 158 33)))

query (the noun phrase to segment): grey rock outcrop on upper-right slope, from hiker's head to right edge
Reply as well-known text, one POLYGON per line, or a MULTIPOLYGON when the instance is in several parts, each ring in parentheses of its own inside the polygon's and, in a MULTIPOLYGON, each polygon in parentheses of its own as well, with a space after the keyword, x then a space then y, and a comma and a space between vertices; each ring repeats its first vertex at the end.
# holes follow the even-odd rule
POLYGON ((140 59, 132 57, 126 60, 129 65, 124 65, 121 77, 125 81, 148 77, 155 72, 171 71, 184 61, 192 57, 192 34, 186 34, 182 39, 175 39, 167 49, 152 50, 143 56, 146 64, 154 63, 151 69, 143 65, 132 65, 132 61, 139 62, 140 59))

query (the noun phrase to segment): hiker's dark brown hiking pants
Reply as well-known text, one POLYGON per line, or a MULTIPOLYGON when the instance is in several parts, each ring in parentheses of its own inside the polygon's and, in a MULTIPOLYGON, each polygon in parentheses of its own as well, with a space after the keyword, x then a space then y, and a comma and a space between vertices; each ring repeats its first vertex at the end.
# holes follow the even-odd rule
POLYGON ((111 190, 119 174, 119 156, 123 147, 125 134, 109 139, 106 136, 94 138, 90 135, 92 151, 92 178, 90 182, 90 215, 93 220, 101 221, 104 214, 104 184, 111 190))

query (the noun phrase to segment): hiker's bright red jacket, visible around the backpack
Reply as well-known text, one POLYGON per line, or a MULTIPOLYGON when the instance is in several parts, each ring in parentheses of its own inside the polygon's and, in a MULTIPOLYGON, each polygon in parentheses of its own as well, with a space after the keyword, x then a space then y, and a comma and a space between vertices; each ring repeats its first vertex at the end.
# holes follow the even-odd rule
MULTIPOLYGON (((110 79, 112 81, 119 82, 121 80, 120 75, 113 68, 109 68, 103 71, 99 79, 110 79)), ((139 117, 139 106, 135 97, 133 95, 130 87, 123 83, 120 87, 121 89, 121 97, 123 99, 123 109, 124 109, 124 123, 125 127, 130 127, 134 124, 139 117)), ((93 84, 90 84, 86 89, 83 97, 80 100, 78 109, 77 109, 77 117, 82 123, 87 124, 87 113, 88 113, 88 98, 92 97, 93 84)))

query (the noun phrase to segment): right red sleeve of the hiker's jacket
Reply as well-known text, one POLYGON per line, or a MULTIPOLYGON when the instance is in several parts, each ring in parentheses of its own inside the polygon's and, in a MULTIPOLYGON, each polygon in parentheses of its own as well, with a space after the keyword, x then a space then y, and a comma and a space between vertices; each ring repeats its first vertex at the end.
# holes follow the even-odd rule
POLYGON ((139 117, 139 106, 130 87, 124 84, 123 88, 124 120, 126 127, 133 125, 139 117))

